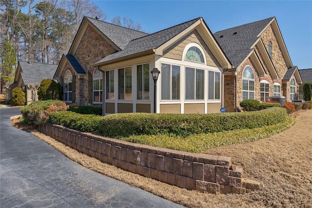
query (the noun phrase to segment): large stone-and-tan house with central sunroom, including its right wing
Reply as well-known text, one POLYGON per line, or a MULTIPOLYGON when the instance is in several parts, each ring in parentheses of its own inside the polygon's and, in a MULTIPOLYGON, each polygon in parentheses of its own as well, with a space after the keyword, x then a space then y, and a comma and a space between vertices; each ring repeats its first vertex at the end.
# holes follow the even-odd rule
POLYGON ((103 115, 231 112, 245 99, 296 100, 302 83, 274 17, 215 34, 202 18, 147 34, 84 17, 54 79, 66 103, 103 115))

